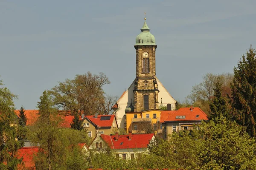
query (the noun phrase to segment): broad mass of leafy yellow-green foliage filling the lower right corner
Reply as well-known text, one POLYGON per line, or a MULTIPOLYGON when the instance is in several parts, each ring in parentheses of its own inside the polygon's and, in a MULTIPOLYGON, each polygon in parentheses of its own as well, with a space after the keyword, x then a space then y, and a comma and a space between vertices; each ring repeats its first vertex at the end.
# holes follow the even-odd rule
POLYGON ((222 115, 215 122, 203 122, 200 130, 184 130, 173 133, 170 141, 151 142, 148 150, 151 162, 153 158, 166 161, 164 167, 148 162, 145 168, 239 170, 253 168, 250 163, 256 159, 255 139, 222 115))

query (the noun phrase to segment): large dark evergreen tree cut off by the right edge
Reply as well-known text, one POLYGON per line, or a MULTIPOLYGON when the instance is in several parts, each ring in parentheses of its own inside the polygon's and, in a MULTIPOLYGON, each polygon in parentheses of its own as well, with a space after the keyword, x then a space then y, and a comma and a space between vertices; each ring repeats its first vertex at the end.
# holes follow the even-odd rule
POLYGON ((251 46, 242 55, 238 66, 234 68, 231 84, 234 119, 247 129, 250 136, 256 137, 256 51, 251 46))

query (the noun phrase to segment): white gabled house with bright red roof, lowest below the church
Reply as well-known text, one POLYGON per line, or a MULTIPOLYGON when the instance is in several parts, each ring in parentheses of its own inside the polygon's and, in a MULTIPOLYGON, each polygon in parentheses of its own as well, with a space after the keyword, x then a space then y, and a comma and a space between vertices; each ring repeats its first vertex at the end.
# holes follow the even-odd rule
POLYGON ((111 149, 116 158, 134 159, 140 153, 147 150, 148 144, 155 139, 154 133, 128 135, 104 135, 98 133, 89 149, 92 151, 106 151, 111 149))

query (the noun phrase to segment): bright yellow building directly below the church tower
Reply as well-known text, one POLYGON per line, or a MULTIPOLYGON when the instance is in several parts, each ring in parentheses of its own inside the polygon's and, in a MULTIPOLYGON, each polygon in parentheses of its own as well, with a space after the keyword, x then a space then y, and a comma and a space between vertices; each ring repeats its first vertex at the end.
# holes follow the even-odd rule
POLYGON ((157 133, 161 128, 159 124, 160 114, 161 110, 158 109, 141 112, 126 112, 126 132, 150 133, 153 128, 154 132, 157 133))

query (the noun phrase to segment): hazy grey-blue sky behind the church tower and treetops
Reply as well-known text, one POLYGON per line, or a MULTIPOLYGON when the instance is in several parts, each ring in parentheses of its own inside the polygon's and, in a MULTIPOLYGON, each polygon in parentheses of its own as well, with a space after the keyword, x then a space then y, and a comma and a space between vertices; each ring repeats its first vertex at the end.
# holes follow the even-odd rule
POLYGON ((255 0, 0 0, 0 76, 37 109, 44 90, 77 74, 103 72, 106 94, 136 77, 135 38, 146 12, 155 36, 156 74, 177 101, 207 73, 233 73, 256 47, 255 0))

